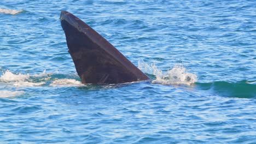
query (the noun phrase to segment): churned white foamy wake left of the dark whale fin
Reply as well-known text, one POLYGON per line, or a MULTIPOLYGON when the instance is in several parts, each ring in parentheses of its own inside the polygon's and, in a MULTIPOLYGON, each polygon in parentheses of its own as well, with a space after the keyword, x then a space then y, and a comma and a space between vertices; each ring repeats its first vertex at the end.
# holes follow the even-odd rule
MULTIPOLYGON (((59 74, 46 74, 45 71, 42 74, 29 75, 29 74, 14 74, 11 71, 4 71, 0 76, 0 98, 13 98, 20 95, 24 95, 24 91, 7 91, 6 89, 13 87, 38 87, 38 86, 50 86, 50 87, 82 87, 84 86, 80 81, 75 79, 78 76, 59 75, 59 74), (61 79, 65 77, 65 79, 61 79)), ((16 88, 15 88, 16 89, 16 88)), ((20 89, 20 88, 18 88, 20 89)))

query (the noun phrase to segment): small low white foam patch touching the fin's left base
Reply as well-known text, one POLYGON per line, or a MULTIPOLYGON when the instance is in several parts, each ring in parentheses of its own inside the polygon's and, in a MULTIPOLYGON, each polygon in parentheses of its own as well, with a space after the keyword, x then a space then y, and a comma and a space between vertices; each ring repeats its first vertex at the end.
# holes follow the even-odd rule
POLYGON ((72 86, 84 86, 80 81, 74 79, 56 79, 50 86, 53 87, 72 87, 72 86))

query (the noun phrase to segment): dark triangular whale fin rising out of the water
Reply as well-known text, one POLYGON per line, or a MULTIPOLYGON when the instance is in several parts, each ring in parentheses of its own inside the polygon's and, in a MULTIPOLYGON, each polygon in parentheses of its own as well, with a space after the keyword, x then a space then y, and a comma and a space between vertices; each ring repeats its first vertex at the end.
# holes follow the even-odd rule
POLYGON ((149 80, 147 75, 78 17, 68 11, 61 11, 60 19, 68 52, 82 83, 149 80))

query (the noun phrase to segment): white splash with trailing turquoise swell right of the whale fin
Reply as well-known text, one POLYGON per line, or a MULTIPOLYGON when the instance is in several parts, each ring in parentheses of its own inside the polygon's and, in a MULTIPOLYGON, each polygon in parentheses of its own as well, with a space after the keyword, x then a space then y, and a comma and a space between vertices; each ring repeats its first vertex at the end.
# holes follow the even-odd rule
MULTIPOLYGON (((156 77, 152 83, 159 83, 163 85, 191 85, 196 82, 197 76, 189 73, 182 65, 175 65, 172 69, 168 70, 165 74, 159 70, 154 64, 147 64, 144 61, 138 62, 139 69, 147 74, 156 77)), ((211 91, 213 95, 222 97, 235 97, 235 98, 256 98, 256 81, 215 81, 210 83, 196 82, 195 89, 211 91)))

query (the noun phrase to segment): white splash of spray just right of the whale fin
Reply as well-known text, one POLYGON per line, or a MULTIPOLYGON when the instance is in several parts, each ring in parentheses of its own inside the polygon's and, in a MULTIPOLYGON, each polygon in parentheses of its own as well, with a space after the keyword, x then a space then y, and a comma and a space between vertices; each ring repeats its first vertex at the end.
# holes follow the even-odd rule
POLYGON ((155 64, 147 64, 144 61, 139 61, 138 67, 147 74, 155 75, 156 79, 152 83, 162 85, 191 85, 197 81, 197 76, 189 73, 182 65, 175 65, 165 74, 155 64))

